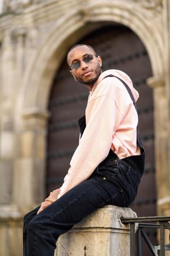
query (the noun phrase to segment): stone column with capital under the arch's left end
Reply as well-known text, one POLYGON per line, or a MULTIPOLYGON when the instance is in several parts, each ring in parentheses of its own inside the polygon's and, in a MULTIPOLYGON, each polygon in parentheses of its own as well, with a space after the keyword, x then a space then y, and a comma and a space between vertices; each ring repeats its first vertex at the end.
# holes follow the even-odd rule
POLYGON ((29 109, 23 113, 23 129, 18 134, 20 156, 15 160, 13 193, 14 201, 22 213, 37 207, 44 199, 48 117, 48 112, 40 109, 29 109))

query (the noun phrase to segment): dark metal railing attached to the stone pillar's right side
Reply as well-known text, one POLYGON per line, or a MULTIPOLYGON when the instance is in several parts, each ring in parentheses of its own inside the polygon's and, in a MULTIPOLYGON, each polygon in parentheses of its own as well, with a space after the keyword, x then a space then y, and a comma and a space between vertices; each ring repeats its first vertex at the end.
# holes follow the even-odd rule
POLYGON ((137 256, 142 256, 142 241, 143 237, 148 248, 151 251, 151 255, 159 256, 158 250, 160 250, 160 256, 165 256, 165 250, 170 250, 170 236, 169 244, 165 245, 165 229, 170 230, 170 216, 168 217, 139 217, 139 218, 121 218, 123 224, 130 224, 130 256, 135 256, 135 251, 137 251, 137 256), (152 222, 158 222, 154 224, 152 222), (138 224, 138 230, 135 233, 135 223, 138 224), (150 238, 145 232, 145 228, 154 228, 160 230, 160 245, 152 245, 150 238), (137 238, 137 248, 135 249, 135 234, 137 238))

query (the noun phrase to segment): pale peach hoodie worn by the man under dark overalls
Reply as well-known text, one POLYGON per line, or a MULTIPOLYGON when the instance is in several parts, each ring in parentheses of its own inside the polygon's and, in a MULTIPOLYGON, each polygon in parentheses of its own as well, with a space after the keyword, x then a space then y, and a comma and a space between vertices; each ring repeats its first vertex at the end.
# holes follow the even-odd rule
POLYGON ((140 154, 137 151, 137 112, 122 82, 115 77, 104 79, 109 74, 126 82, 135 101, 139 97, 130 77, 124 72, 111 69, 101 73, 88 97, 86 129, 71 159, 58 198, 87 180, 111 148, 120 159, 140 154))

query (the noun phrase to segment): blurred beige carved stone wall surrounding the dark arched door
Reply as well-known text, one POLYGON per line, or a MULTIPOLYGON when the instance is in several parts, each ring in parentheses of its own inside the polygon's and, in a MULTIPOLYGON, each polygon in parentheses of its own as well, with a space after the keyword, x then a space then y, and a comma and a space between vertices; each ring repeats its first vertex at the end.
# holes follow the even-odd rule
MULTIPOLYGON (((158 213, 169 215, 169 13, 168 0, 5 1, 0 15, 3 216, 14 212, 23 216, 44 198, 47 106, 54 73, 67 50, 103 22, 131 28, 150 56, 154 75, 148 85, 154 90, 158 213)), ((20 256, 15 251, 13 255, 20 256)))

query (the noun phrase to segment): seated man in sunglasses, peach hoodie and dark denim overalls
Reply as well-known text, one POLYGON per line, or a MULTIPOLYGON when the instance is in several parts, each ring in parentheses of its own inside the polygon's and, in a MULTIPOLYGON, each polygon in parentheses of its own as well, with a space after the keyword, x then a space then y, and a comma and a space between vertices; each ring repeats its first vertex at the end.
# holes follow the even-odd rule
POLYGON ((102 73, 91 46, 70 49, 67 63, 90 90, 81 138, 60 189, 24 217, 24 256, 53 256, 58 237, 106 204, 128 207, 143 174, 145 150, 138 133, 138 92, 124 72, 102 73))

